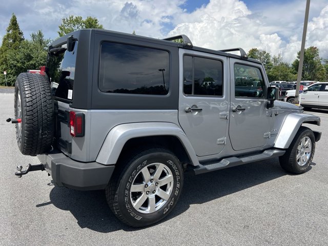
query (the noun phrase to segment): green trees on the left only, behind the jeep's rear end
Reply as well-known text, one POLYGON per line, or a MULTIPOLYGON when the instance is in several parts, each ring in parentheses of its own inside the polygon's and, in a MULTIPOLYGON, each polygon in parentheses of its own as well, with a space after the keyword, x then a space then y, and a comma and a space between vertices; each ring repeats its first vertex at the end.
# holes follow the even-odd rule
MULTIPOLYGON (((83 19, 81 16, 71 15, 62 19, 62 23, 58 26, 58 37, 84 28, 103 29, 103 25, 94 17, 88 16, 83 19)), ((6 77, 7 85, 14 86, 19 73, 45 66, 48 46, 51 42, 52 40, 45 38, 41 30, 32 33, 30 39, 25 39, 16 15, 12 14, 0 47, 0 86, 6 85, 6 77), (6 77, 4 71, 7 73, 6 77)))

